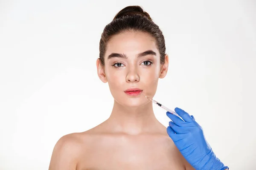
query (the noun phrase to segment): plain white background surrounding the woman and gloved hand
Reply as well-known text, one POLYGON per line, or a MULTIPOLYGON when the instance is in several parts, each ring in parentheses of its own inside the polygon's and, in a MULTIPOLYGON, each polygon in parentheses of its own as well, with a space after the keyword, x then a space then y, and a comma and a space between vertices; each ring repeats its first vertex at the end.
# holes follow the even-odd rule
MULTIPOLYGON (((230 169, 256 169, 255 1, 1 0, 0 170, 46 170, 61 136, 110 116, 99 40, 129 5, 165 36, 169 72, 154 99, 194 115, 230 169)), ((167 127, 166 111, 154 112, 167 127)))

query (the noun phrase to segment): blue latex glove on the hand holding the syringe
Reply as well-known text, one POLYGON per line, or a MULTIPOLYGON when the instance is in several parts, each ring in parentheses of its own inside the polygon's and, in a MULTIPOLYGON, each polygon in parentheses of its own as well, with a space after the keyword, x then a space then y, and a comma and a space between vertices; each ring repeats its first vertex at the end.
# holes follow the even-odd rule
POLYGON ((167 127, 167 133, 189 164, 196 170, 229 169, 213 153, 204 137, 202 127, 195 122, 194 116, 190 116, 180 108, 175 108, 175 112, 184 121, 167 112, 166 115, 172 119, 167 127))

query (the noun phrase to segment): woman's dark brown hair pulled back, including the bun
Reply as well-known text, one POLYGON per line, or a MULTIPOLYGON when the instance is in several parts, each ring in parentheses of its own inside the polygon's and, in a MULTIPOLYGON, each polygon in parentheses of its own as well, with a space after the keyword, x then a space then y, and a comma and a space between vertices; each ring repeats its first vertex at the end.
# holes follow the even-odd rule
POLYGON ((164 63, 166 47, 162 31, 140 6, 127 6, 119 11, 112 22, 104 28, 99 42, 99 59, 102 65, 105 65, 104 55, 108 40, 111 36, 124 31, 142 31, 154 37, 160 52, 160 63, 164 63))

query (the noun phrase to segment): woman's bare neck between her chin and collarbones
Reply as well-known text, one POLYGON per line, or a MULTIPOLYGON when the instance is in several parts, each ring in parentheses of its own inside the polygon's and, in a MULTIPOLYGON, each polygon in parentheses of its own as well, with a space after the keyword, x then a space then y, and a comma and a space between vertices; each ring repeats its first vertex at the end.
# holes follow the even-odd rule
POLYGON ((157 133, 163 128, 154 115, 152 102, 139 107, 129 107, 114 101, 111 116, 107 121, 116 133, 157 133))

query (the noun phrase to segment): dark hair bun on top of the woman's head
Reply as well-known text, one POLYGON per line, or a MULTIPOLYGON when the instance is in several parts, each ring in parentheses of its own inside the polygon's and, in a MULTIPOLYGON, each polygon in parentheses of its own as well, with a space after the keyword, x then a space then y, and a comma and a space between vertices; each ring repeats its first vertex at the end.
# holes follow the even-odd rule
POLYGON ((121 18, 121 17, 126 16, 126 15, 133 16, 133 15, 136 15, 136 14, 147 17, 148 20, 152 20, 151 17, 149 16, 149 14, 147 12, 145 12, 143 10, 143 8, 141 8, 140 6, 127 6, 127 7, 123 8, 121 11, 119 11, 116 14, 116 16, 114 17, 113 20, 116 20, 117 18, 121 18))

